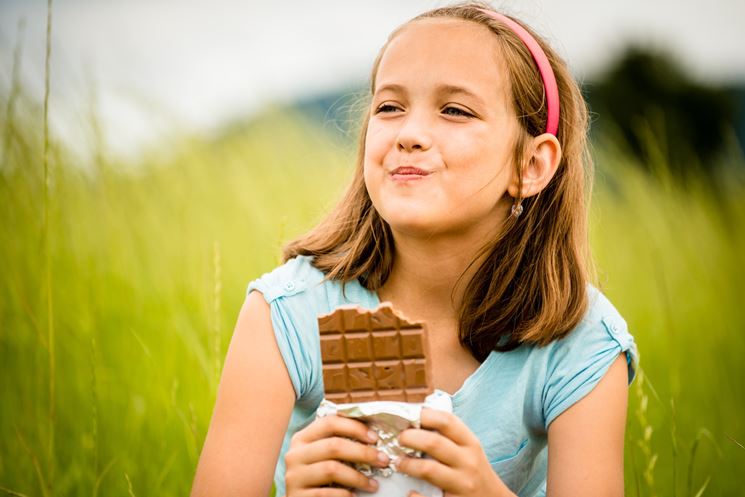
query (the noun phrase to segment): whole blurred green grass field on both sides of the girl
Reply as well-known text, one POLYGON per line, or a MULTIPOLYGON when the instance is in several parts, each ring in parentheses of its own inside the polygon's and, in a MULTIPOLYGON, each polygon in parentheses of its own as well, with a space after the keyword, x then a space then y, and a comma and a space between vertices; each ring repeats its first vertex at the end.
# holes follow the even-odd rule
MULTIPOLYGON (((246 285, 332 205, 352 153, 268 112, 135 164, 94 142, 82 167, 52 141, 45 192, 27 115, 2 127, 0 495, 188 495, 246 285)), ((745 188, 596 152, 599 283, 641 354, 627 495, 742 495, 745 188)))

